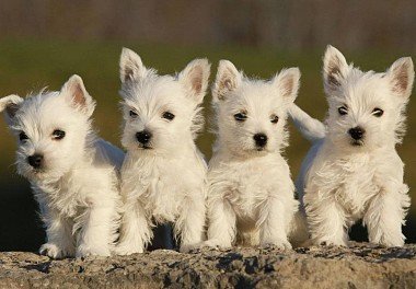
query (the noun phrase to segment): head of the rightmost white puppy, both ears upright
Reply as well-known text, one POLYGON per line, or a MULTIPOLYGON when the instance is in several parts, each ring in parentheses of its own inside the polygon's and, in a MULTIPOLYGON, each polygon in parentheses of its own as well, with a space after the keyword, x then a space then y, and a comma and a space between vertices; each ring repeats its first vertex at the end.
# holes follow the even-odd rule
POLYGON ((409 57, 396 60, 383 73, 363 72, 328 46, 323 68, 328 138, 337 148, 354 151, 400 142, 414 74, 409 57))

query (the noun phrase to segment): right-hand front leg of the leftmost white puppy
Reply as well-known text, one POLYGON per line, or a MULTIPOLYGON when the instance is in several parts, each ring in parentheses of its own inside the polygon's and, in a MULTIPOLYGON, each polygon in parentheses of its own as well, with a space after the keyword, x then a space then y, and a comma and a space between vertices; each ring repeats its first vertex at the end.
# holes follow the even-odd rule
POLYGON ((76 219, 80 228, 77 256, 109 256, 117 238, 118 212, 112 199, 96 200, 76 219))

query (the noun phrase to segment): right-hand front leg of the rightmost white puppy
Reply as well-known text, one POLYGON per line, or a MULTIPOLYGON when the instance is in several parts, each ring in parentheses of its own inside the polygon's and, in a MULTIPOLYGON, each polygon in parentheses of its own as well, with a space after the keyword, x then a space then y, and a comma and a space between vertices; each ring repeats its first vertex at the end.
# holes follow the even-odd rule
POLYGON ((384 185, 369 203, 363 222, 368 228, 370 243, 384 246, 403 246, 405 236, 402 226, 411 205, 405 184, 384 185))

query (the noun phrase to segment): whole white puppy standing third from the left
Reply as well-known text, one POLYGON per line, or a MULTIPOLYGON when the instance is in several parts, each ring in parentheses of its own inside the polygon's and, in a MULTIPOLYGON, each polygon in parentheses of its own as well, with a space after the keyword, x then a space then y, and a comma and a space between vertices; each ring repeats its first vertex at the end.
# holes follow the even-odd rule
POLYGON ((297 97, 300 71, 253 80, 228 60, 219 62, 212 89, 217 141, 208 171, 209 246, 290 248, 298 208, 286 160, 287 109, 297 97), (241 238, 241 240, 236 240, 241 238))

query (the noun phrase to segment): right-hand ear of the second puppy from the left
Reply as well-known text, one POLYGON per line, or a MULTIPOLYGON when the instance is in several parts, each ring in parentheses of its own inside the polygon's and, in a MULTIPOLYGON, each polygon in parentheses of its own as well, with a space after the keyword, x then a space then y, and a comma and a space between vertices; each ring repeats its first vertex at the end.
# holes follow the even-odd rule
POLYGON ((198 104, 203 102, 207 92, 210 67, 211 65, 207 59, 195 59, 185 67, 177 78, 198 104))

